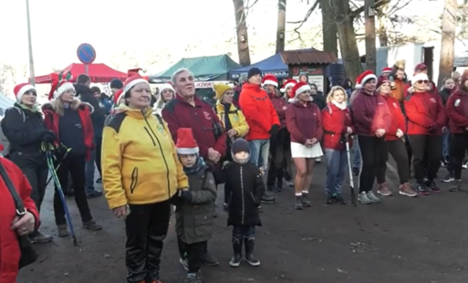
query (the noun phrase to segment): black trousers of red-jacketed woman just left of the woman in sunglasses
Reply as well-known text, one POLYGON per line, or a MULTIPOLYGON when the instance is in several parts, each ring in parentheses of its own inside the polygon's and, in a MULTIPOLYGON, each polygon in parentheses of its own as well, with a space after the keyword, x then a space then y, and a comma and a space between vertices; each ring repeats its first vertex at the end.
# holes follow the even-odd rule
MULTIPOLYGON (((408 152, 406 152, 405 142, 398 139, 395 141, 387 141, 387 149, 391 157, 397 163, 398 177, 400 184, 410 181, 410 166, 408 162, 408 152)), ((380 169, 377 172, 377 183, 385 182, 385 170, 380 169)))

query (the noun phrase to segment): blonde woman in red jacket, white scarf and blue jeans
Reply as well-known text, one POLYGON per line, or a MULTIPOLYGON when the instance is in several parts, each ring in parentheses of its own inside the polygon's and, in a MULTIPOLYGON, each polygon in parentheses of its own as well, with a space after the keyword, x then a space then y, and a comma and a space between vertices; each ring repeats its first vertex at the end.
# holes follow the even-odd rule
POLYGON ((341 195, 348 168, 345 143, 352 142, 350 134, 353 132, 347 97, 345 89, 333 87, 327 96, 327 106, 322 110, 323 145, 327 156, 326 204, 346 204, 341 195))

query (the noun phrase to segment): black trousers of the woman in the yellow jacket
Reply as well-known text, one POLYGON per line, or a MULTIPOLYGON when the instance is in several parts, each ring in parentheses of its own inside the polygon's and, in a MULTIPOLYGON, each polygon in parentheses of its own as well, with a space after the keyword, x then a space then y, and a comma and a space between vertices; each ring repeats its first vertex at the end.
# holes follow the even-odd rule
POLYGON ((130 215, 125 220, 128 283, 151 282, 160 278, 163 240, 170 216, 169 200, 156 204, 130 204, 130 215))

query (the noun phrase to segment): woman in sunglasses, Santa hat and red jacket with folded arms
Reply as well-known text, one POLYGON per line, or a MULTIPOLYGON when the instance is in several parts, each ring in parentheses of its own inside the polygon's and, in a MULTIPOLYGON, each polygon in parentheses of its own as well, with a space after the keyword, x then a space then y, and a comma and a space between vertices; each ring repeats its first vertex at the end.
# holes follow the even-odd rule
POLYGON ((430 81, 423 72, 413 76, 411 83, 412 87, 408 89, 409 94, 404 103, 416 190, 419 194, 440 192, 434 179, 441 166, 442 128, 445 126, 441 96, 429 90, 430 81))

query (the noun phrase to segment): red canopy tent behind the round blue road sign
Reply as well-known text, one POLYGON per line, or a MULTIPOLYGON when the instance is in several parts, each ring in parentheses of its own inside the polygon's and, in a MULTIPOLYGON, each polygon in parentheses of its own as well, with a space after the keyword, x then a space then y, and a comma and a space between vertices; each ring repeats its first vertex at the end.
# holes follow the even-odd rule
MULTIPOLYGON (((64 68, 62 72, 64 73, 64 75, 70 72, 71 75, 73 76, 72 79, 70 80, 72 82, 75 82, 79 75, 85 73, 85 65, 73 63, 73 64, 68 65, 67 68, 64 68)), ((53 80, 58 79, 59 74, 60 72, 54 72, 46 76, 36 77, 34 80, 36 81, 37 84, 51 83, 53 80)), ((120 79, 122 81, 125 81, 125 79, 127 79, 127 73, 120 72, 116 69, 110 68, 106 64, 101 64, 101 63, 89 64, 88 76, 89 78, 91 78, 91 82, 100 82, 100 83, 108 83, 112 79, 120 79)))

